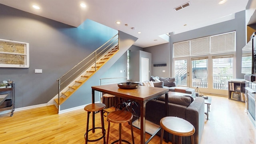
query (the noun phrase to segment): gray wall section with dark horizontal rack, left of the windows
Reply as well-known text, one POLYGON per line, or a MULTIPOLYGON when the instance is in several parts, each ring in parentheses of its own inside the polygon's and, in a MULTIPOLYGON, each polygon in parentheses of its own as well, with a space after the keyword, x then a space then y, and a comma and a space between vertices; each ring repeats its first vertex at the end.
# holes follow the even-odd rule
POLYGON ((170 72, 170 43, 160 44, 157 46, 150 46, 148 48, 144 48, 144 51, 150 52, 152 54, 152 75, 159 76, 164 78, 169 78, 172 75, 170 72), (156 66, 154 64, 166 64, 166 66, 156 66), (163 72, 165 70, 165 72, 163 72))

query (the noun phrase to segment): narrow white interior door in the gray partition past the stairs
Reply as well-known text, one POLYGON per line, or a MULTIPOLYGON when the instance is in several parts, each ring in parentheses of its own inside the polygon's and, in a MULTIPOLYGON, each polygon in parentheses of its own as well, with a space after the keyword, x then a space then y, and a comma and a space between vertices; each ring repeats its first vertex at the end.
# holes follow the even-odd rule
POLYGON ((141 58, 141 66, 140 66, 140 82, 144 82, 149 80, 149 60, 148 58, 141 58))

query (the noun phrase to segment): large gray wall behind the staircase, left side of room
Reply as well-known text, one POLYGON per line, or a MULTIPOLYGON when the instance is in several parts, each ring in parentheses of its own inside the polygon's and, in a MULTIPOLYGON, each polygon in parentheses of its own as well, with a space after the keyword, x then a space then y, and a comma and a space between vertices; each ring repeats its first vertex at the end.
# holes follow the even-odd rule
POLYGON ((0 68, 0 82, 15 81, 16 108, 47 103, 58 93, 56 80, 116 33, 91 20, 74 28, 0 4, 0 39, 30 44, 30 67, 0 68))

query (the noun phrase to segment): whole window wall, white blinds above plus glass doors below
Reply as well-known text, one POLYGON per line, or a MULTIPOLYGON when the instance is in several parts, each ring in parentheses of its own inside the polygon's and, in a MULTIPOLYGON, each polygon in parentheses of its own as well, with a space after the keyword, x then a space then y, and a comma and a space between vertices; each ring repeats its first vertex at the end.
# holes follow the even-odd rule
POLYGON ((176 42, 173 44, 176 83, 183 85, 182 82, 188 80, 187 86, 207 88, 206 93, 227 90, 228 80, 233 78, 235 54, 235 31, 176 42), (186 79, 181 79, 182 76, 176 72, 176 62, 180 59, 188 60, 187 65, 191 65, 183 72, 182 76, 186 74, 186 79))

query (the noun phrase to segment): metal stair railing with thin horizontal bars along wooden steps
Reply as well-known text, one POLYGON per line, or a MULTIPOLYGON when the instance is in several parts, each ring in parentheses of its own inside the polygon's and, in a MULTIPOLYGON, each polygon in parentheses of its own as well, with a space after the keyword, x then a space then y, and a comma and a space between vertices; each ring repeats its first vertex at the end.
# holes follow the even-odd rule
MULTIPOLYGON (((76 64, 72 69, 58 78, 58 105, 60 105, 60 92, 66 88, 71 82, 76 80, 82 73, 84 73, 88 68, 94 65, 95 71, 97 70, 97 61, 106 55, 112 48, 115 49, 119 45, 119 34, 116 34, 110 40, 105 42, 102 46, 94 50, 89 56, 84 58, 81 62, 76 64)), ((113 51, 113 50, 112 50, 113 51)), ((107 56, 110 53, 107 54, 107 56)))

